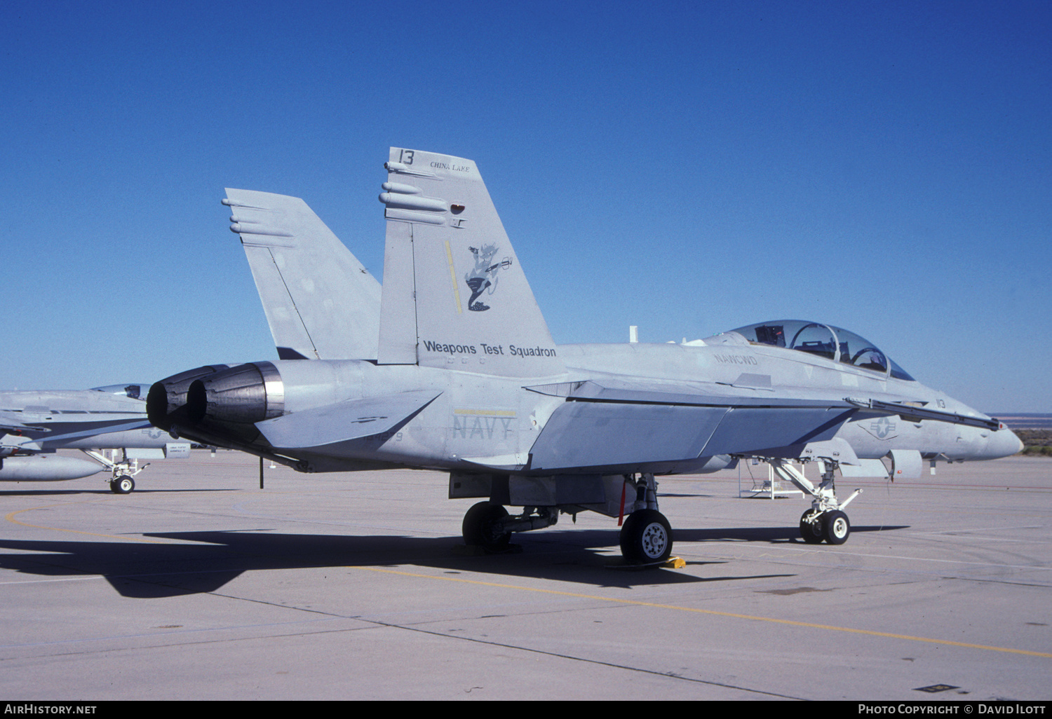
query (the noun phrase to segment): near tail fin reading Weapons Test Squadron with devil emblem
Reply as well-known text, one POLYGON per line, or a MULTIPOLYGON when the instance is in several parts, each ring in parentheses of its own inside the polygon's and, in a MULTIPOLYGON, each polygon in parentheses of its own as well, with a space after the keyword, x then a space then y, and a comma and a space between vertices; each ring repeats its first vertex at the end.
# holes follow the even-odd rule
POLYGON ((565 371, 470 160, 392 147, 379 362, 540 377, 565 371))

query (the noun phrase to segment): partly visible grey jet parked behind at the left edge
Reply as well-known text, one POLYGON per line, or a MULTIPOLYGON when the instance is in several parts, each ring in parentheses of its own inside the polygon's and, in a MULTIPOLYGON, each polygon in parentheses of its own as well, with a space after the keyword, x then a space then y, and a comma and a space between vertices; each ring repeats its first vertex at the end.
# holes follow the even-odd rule
POLYGON ((189 443, 150 427, 146 389, 0 392, 0 481, 79 479, 109 470, 109 489, 127 494, 146 468, 140 459, 189 456, 189 443), (79 449, 92 458, 59 455, 58 449, 79 449))

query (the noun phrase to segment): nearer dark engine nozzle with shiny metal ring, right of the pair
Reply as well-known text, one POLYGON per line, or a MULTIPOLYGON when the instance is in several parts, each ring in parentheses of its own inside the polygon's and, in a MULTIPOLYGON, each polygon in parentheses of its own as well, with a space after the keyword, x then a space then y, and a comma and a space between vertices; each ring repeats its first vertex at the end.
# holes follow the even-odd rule
POLYGON ((269 362, 250 363, 190 383, 186 417, 194 424, 252 425, 281 416, 285 385, 269 362))

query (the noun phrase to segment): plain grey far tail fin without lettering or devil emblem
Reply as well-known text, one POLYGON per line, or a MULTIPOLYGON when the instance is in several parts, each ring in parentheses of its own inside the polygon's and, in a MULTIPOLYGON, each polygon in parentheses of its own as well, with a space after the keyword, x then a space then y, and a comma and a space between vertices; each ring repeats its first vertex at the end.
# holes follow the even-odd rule
POLYGON ((227 189, 282 359, 376 359, 380 284, 299 198, 227 189))

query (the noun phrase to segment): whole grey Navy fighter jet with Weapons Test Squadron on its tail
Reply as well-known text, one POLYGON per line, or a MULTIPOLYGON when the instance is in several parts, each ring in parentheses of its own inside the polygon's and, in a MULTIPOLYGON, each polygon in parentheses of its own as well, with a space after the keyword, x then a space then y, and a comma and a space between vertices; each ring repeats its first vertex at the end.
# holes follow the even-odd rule
POLYGON ((447 471, 451 498, 484 498, 462 529, 491 551, 560 514, 623 518, 643 563, 672 549, 655 475, 762 458, 811 496, 802 536, 842 543, 855 495, 837 499, 836 470, 886 472, 887 456, 904 476, 1020 447, 831 325, 555 346, 476 164, 391 148, 385 167, 382 290, 302 200, 227 190, 281 358, 156 383, 155 426, 305 472, 447 471), (791 460, 822 463, 822 481, 791 460))

